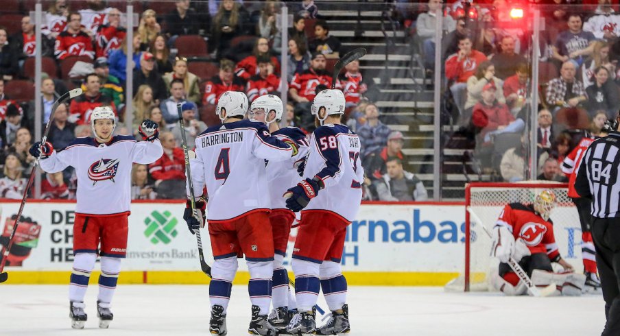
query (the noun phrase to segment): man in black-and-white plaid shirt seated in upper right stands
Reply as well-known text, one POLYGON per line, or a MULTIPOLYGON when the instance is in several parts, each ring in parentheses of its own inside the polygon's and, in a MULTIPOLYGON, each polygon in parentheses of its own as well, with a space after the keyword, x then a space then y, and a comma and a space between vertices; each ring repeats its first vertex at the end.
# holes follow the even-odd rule
POLYGON ((560 108, 579 106, 586 101, 584 84, 575 79, 575 63, 564 62, 560 77, 549 81, 547 86, 547 104, 556 112, 560 108))

